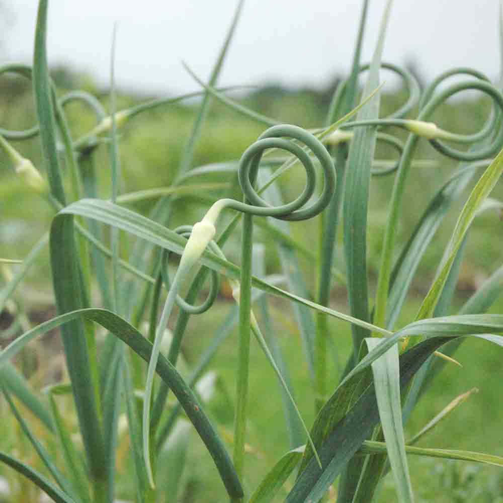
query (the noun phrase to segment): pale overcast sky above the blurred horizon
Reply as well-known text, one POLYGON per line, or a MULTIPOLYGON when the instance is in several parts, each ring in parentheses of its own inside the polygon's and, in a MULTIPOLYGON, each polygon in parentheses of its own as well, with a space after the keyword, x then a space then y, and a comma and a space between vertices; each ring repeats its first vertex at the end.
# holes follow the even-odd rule
MULTIPOLYGON (((12 16, 2 59, 29 61, 36 0, 3 0, 12 16)), ((118 23, 116 79, 123 89, 168 94, 198 89, 185 60, 206 78, 237 0, 51 0, 49 62, 69 63, 106 83, 113 24, 118 23)), ((362 2, 248 0, 220 83, 274 81, 325 85, 347 71, 362 2)), ((370 0, 364 60, 371 57, 384 0, 370 0)), ((384 59, 416 61, 433 78, 467 65, 499 71, 497 0, 395 0, 384 59)))

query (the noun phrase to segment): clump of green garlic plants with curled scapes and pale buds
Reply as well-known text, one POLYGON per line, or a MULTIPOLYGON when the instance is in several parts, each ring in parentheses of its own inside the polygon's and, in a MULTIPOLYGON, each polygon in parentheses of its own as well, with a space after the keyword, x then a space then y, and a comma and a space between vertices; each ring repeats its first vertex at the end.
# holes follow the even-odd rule
MULTIPOLYGON (((0 130, 0 147, 12 164, 13 176, 20 177, 33 197, 45 198, 54 210, 48 234, 26 258, 17 258, 22 259, 21 265, 16 265, 18 260, 2 259, 5 283, 0 291, 0 305, 4 308, 12 300, 30 266, 48 244, 58 311, 56 317, 38 326, 23 326, 23 335, 0 352, 0 385, 25 436, 24 442, 31 444, 39 462, 35 469, 14 452, 0 452, 0 461, 27 477, 54 501, 113 501, 117 492, 116 462, 125 438, 130 446, 129 478, 134 481, 134 490, 128 497, 143 503, 176 500, 182 482, 180 467, 174 467, 176 460, 184 459, 177 456, 185 452, 192 430, 197 431, 214 462, 213 476, 221 480, 228 498, 236 503, 270 501, 274 497, 299 503, 319 501, 330 494, 334 483, 338 484, 338 501, 368 502, 374 499, 379 482, 389 470, 399 500, 413 501, 407 454, 503 466, 502 458, 490 454, 413 446, 468 395, 448 404, 410 441, 405 441, 403 433, 403 424, 427 381, 446 362, 456 363, 448 353, 469 337, 503 345, 503 315, 484 314, 499 292, 501 270, 489 277, 457 314, 448 315, 468 230, 480 212, 501 207, 489 198, 503 171, 500 91, 483 74, 469 68, 447 71, 421 91, 410 73, 383 62, 391 1, 383 14, 372 61, 362 65, 360 49, 367 13, 364 1, 352 71, 333 96, 325 126, 306 131, 296 125, 277 124, 274 119, 233 102, 223 93, 225 90, 215 87, 242 5, 239 2, 209 83, 203 83, 187 66, 203 86, 203 101, 174 184, 153 192, 118 193, 117 130, 145 110, 192 95, 116 111, 112 72, 108 113, 87 93, 58 96, 49 76, 46 54, 48 0, 39 2, 33 66, 10 64, 0 68, 0 73, 18 73, 33 81, 40 125, 26 131, 0 130), (409 93, 406 103, 384 118, 379 117, 380 69, 396 73, 409 93), (365 74, 366 83, 357 103, 360 73, 365 74), (451 76, 463 79, 446 85, 451 76), (492 100, 492 111, 482 130, 460 135, 432 122, 441 104, 466 90, 477 90, 492 100), (198 196, 207 189, 207 185, 197 183, 197 177, 218 173, 223 179, 229 174, 228 164, 225 169, 220 165, 193 166, 194 148, 211 98, 264 124, 265 130, 239 161, 231 163, 230 174, 237 173, 243 200, 227 197, 230 176, 225 183, 212 186, 219 191, 218 197, 211 197, 210 202, 208 197, 199 198, 208 202, 199 222, 186 222, 172 230, 170 219, 177 205, 190 204, 184 199, 187 194, 198 196), (65 106, 74 101, 90 107, 97 117, 97 126, 77 139, 72 138, 65 115, 65 106), (405 143, 392 134, 393 128, 407 132, 405 143), (13 145, 14 140, 37 134, 42 144, 43 166, 34 166, 13 145), (443 156, 455 159, 458 166, 417 219, 408 241, 397 254, 396 234, 404 189, 411 167, 420 164, 417 144, 421 140, 428 141, 443 156), (377 142, 396 150, 398 160, 383 168, 375 159, 377 142), (453 146, 456 144, 462 146, 453 146), (97 196, 94 162, 102 145, 110 152, 109 200, 97 196), (284 203, 278 179, 298 166, 305 171, 305 188, 294 201, 284 203), (371 307, 366 249, 373 176, 388 176, 393 193, 371 307), (397 329, 397 317, 425 250, 433 245, 435 232, 450 206, 470 184, 471 192, 421 308, 410 323, 397 329), (148 217, 124 207, 128 201, 154 196, 159 200, 148 217), (224 213, 227 217, 221 218, 224 213), (254 261, 260 263, 264 251, 262 244, 255 241, 256 221, 274 236, 270 246, 278 250, 282 269, 279 275, 252 274, 254 261), (346 276, 334 266, 340 221, 346 276), (308 222, 304 228, 313 236, 316 251, 303 249, 291 237, 290 229, 302 222, 308 222), (238 226, 241 250, 236 265, 227 260, 223 248, 238 226), (112 228, 109 239, 105 239, 107 227, 112 228), (119 231, 135 239, 127 254, 120 253, 119 231), (260 250, 258 255, 254 248, 260 250), (299 266, 299 253, 311 259, 310 271, 299 266), (181 257, 173 280, 169 277, 170 254, 181 257), (13 267, 14 272, 9 269, 13 267), (306 274, 317 278, 316 291, 307 290, 306 274), (202 304, 195 305, 208 277, 209 295, 202 304), (200 362, 185 369, 182 377, 177 366, 188 320, 211 312, 221 278, 228 282, 235 305, 200 362), (346 285, 350 314, 329 307, 329 293, 336 281, 346 285), (287 288, 280 288, 281 283, 286 283, 287 288), (95 303, 91 292, 94 286, 101 303, 95 303), (265 294, 291 302, 303 340, 316 411, 312 425, 306 424, 295 403, 287 365, 270 333, 265 294), (259 310, 261 315, 256 316, 259 310), (331 337, 328 317, 347 322, 353 337, 352 354, 336 384, 327 379, 327 342, 331 337), (167 341, 169 321, 173 328, 167 341), (196 384, 235 325, 238 358, 234 431, 229 440, 231 455, 230 446, 207 412, 207 393, 196 391, 196 384), (39 395, 11 359, 28 342, 56 327, 61 329, 69 379, 51 384, 39 395), (97 333, 102 332, 106 336, 97 342, 97 333), (278 378, 285 408, 284 426, 292 447, 257 487, 249 487, 246 482, 244 457, 247 420, 253 415, 248 403, 251 334, 278 378), (166 341, 167 348, 162 351, 166 341), (454 344, 449 351, 443 351, 447 342, 454 344), (170 391, 176 405, 169 401, 170 391), (76 411, 76 437, 69 431, 68 419, 61 410, 61 400, 70 398, 76 411), (19 402, 37 418, 37 429, 21 413, 19 402), (177 423, 182 409, 186 420, 177 423), (61 451, 60 456, 54 456, 56 450, 61 451), (287 479, 289 484, 285 484, 287 479)), ((19 315, 24 315, 22 309, 19 315)), ((262 406, 267 407, 267 400, 262 406)))

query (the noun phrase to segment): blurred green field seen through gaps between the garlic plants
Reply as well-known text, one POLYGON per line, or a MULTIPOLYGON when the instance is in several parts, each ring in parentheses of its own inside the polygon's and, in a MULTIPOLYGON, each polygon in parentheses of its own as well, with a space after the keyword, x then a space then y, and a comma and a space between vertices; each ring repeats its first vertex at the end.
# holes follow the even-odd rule
MULTIPOLYGON (((108 102, 107 92, 96 87, 92 78, 73 74, 62 68, 54 73, 57 85, 62 90, 83 88, 101 97, 105 105, 108 102)), ((336 79, 334 79, 334 84, 336 79)), ((283 89, 277 86, 267 86, 240 93, 237 98, 246 106, 285 123, 297 124, 305 128, 316 128, 322 125, 322 120, 328 107, 333 86, 325 90, 283 89)), ((131 106, 150 97, 131 96, 126 93, 118 98, 119 109, 131 106)), ((384 91, 382 98, 382 113, 386 115, 397 108, 405 100, 400 90, 393 93, 384 91)), ((134 118, 124 130, 121 130, 120 158, 124 186, 121 193, 142 189, 169 186, 174 179, 181 152, 189 135, 195 115, 197 101, 170 105, 154 112, 148 112, 134 118)), ((435 117, 435 121, 443 128, 460 133, 477 131, 487 117, 489 102, 477 99, 455 101, 445 105, 435 117)), ((81 106, 71 106, 69 118, 74 137, 89 131, 94 125, 92 114, 81 106)), ((0 81, 0 124, 2 127, 22 129, 34 123, 35 112, 31 85, 21 78, 3 77, 0 81)), ((265 126, 253 123, 239 116, 219 103, 213 103, 210 114, 204 125, 202 137, 198 143, 194 166, 212 162, 236 160, 242 151, 265 129, 265 126)), ((398 132, 398 135, 401 133, 398 132)), ((16 143, 25 156, 32 159, 36 166, 41 166, 40 144, 36 137, 29 142, 16 143)), ((104 191, 101 197, 108 197, 107 187, 109 172, 106 148, 101 148, 103 169, 100 172, 104 191)), ((447 180, 452 172, 452 162, 440 158, 427 142, 421 142, 421 154, 418 158, 432 161, 429 167, 413 170, 409 177, 406 193, 406 204, 401 214, 401 231, 399 240, 404 243, 416 220, 422 214, 432 195, 447 180)), ((378 147, 378 157, 393 158, 393 152, 378 147)), ((8 162, 0 156, 0 256, 22 259, 33 244, 49 228, 52 210, 44 200, 30 194, 16 179, 8 162)), ((235 182, 232 176, 223 179, 201 178, 198 182, 235 182)), ((393 176, 373 178, 371 183, 371 201, 369 216, 369 248, 368 263, 371 280, 376 278, 379 264, 382 234, 387 218, 387 202, 389 201, 393 184, 393 176)), ((303 175, 288 174, 281 180, 285 198, 296 194, 303 186, 303 175)), ((207 195, 212 196, 209 192, 207 195)), ((239 197, 238 192, 235 193, 239 197)), ((503 197, 501 184, 492 195, 498 199, 503 197)), ((215 200, 217 193, 215 193, 215 200)), ((132 205, 137 211, 147 212, 152 202, 132 205)), ((438 246, 430 247, 426 254, 412 291, 424 293, 429 287, 437 265, 440 261, 444 244, 460 205, 452 208, 449 217, 440 228, 435 239, 438 246)), ((197 221, 204 212, 204 207, 185 206, 180 204, 175 212, 171 226, 197 221)), ((312 223, 292 225, 293 237, 309 249, 313 249, 316 239, 316 226, 312 223)), ((268 273, 276 271, 277 256, 270 236, 256 230, 258 240, 266 246, 268 273)), ((501 265, 503 259, 503 223, 496 213, 486 213, 478 217, 465 252, 465 260, 457 292, 457 303, 461 305, 474 289, 492 271, 501 265)), ((126 238, 122 240, 124 253, 127 253, 126 238)), ((230 243, 226 248, 229 260, 236 261, 232 248, 237 243, 230 243)), ((306 261, 306 258, 302 260, 306 261)), ((342 254, 339 254, 337 267, 344 271, 342 254)), ((52 291, 49 281, 48 255, 41 257, 28 276, 20 290, 24 302, 30 306, 34 319, 44 316, 50 310, 52 291)), ((313 278, 306 278, 312 288, 313 278)), ((225 293, 225 290, 224 290, 225 293)), ((332 306, 346 311, 346 296, 342 285, 334 284, 332 291, 332 306)), ((231 306, 231 300, 222 295, 218 308, 200 317, 192 317, 191 330, 184 341, 184 354, 187 361, 195 362, 205 348, 205 344, 219 322, 224 318, 231 306), (204 328, 204 329, 203 329, 204 328)), ((401 323, 413 319, 418 308, 416 299, 412 296, 404 310, 401 323)), ((500 296, 492 308, 492 312, 503 312, 503 296, 500 296)), ((271 309, 275 312, 289 312, 288 306, 273 300, 271 309)), ((309 395, 308 373, 301 361, 301 342, 295 325, 289 315, 276 317, 275 330, 277 339, 285 352, 296 399, 308 425, 313 420, 312 397, 309 395), (283 320, 279 323, 278 320, 283 320)), ((332 327, 331 347, 331 377, 335 386, 337 376, 347 358, 351 337, 349 326, 330 320, 332 327)), ((219 417, 222 424, 227 425, 227 432, 232 431, 232 416, 226 412, 226 395, 234 394, 234 368, 236 361, 236 341, 232 337, 221 348, 213 361, 211 368, 218 376, 218 392, 211 403, 211 411, 219 417)), ((254 479, 246 482, 254 487, 260 481, 274 462, 288 449, 287 435, 283 431, 281 398, 273 372, 257 347, 251 355, 250 377, 250 446, 247 463, 255 469, 254 479)), ((457 359, 463 365, 460 369, 454 365, 445 367, 445 371, 437 377, 434 385, 425 394, 420 405, 416 407, 409 424, 407 434, 411 436, 420 430, 436 413, 460 393, 472 387, 479 388, 479 393, 470 397, 455 410, 439 427, 429 434, 420 445, 439 448, 457 448, 477 450, 503 455, 503 409, 500 398, 503 396, 503 353, 499 348, 482 341, 466 342, 457 353, 457 359), (448 431, 448 442, 444 433, 448 431), (455 439, 455 441, 453 441, 455 439)), ((2 422, 0 422, 2 423, 2 422)), ((6 425, 0 426, 0 436, 7 438, 7 432, 2 431, 6 425)), ((225 435, 225 431, 223 432, 225 435)), ((195 437, 195 435, 194 435, 195 437)), ((9 449, 7 449, 9 450, 9 449)), ((222 501, 224 496, 219 481, 212 473, 207 473, 209 464, 201 461, 205 456, 204 449, 196 438, 191 443, 188 466, 186 493, 183 501, 201 501, 201 494, 208 503, 222 501), (210 496, 211 495, 211 496, 210 496), (214 495, 214 496, 213 496, 214 495)), ((479 468, 461 462, 448 463, 439 460, 414 459, 409 457, 411 476, 418 500, 422 501, 503 501, 503 472, 492 468, 479 468), (498 499, 500 498, 500 499, 498 499)), ((124 468, 126 470, 127 468, 124 468)), ((0 470, 3 470, 1 468, 0 470)), ((2 473, 0 471, 0 473, 2 473)), ((393 500, 391 490, 392 480, 387 477, 381 493, 382 501, 393 500), (389 484, 388 484, 389 483, 389 484), (389 486, 388 486, 389 485, 389 486)), ((126 483, 126 482, 124 482, 126 483)), ((124 486, 126 487, 126 486, 124 486)))

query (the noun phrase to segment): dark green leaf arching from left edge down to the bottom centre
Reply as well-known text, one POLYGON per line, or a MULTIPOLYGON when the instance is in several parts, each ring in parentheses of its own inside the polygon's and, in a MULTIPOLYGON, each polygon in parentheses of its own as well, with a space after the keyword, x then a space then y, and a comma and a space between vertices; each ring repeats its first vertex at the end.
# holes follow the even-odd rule
MULTIPOLYGON (((90 321, 99 323, 101 326, 113 333, 114 336, 125 342, 145 362, 150 360, 152 345, 136 328, 129 324, 125 319, 111 311, 106 309, 87 308, 59 315, 56 318, 46 321, 26 332, 0 353, 0 367, 5 365, 10 358, 12 358, 31 340, 47 333, 47 331, 52 328, 56 328, 79 318, 86 318, 90 321)), ((74 334, 74 337, 77 337, 77 334, 74 334)), ((207 446, 208 451, 213 457, 215 465, 220 472, 222 481, 229 492, 229 495, 233 497, 241 497, 241 485, 235 474, 227 451, 205 415, 194 392, 189 386, 187 386, 175 367, 173 367, 173 365, 171 365, 162 355, 159 355, 156 371, 170 386, 170 389, 173 390, 176 397, 184 407, 190 421, 207 446)))

